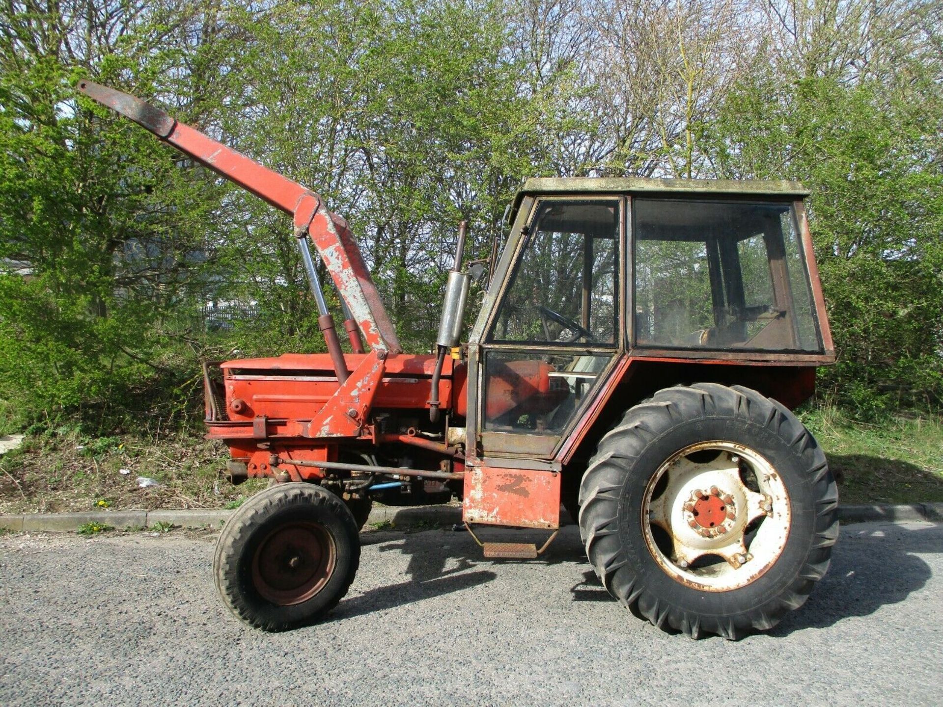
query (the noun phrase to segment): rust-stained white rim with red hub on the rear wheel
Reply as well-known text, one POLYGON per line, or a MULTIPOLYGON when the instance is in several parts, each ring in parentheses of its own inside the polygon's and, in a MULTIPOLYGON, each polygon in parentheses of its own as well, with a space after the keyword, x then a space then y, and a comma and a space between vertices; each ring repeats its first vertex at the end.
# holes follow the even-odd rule
POLYGON ((649 552, 672 579, 730 591, 776 563, 790 519, 786 485, 769 461, 742 444, 714 441, 687 446, 658 468, 641 521, 649 552))

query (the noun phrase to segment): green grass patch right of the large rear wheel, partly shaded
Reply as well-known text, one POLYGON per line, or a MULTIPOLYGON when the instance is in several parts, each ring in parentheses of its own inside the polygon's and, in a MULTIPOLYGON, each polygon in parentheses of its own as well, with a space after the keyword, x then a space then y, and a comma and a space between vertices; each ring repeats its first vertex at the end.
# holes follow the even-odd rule
POLYGON ((841 410, 802 413, 838 479, 843 504, 943 502, 943 419, 857 422, 841 410))

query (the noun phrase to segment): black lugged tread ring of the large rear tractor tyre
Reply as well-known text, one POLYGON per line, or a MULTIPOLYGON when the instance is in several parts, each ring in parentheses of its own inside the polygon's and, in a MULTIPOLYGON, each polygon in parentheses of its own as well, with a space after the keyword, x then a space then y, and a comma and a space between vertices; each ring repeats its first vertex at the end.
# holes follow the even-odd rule
POLYGON ((838 537, 837 487, 828 462, 812 435, 781 403, 743 386, 718 383, 674 386, 627 410, 599 443, 580 487, 580 535, 589 563, 603 586, 633 613, 660 628, 669 627, 692 638, 717 634, 736 639, 751 631, 769 630, 786 612, 799 608, 812 586, 828 570, 838 537), (618 538, 620 489, 638 458, 653 439, 681 421, 725 414, 767 427, 786 441, 808 470, 816 500, 814 537, 801 570, 778 596, 728 617, 699 616, 659 601, 639 581, 618 538))

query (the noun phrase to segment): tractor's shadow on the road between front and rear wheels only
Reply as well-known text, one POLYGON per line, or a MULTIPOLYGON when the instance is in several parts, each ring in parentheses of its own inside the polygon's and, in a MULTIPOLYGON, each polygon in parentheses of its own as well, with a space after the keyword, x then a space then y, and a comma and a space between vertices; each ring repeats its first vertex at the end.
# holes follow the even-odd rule
MULTIPOLYGON (((538 547, 549 537, 546 531, 520 529, 475 529, 482 540, 536 542, 538 547)), ((376 531, 360 536, 362 547, 378 546, 381 553, 397 553, 408 557, 407 579, 394 585, 379 586, 342 600, 325 620, 342 620, 363 614, 391 609, 407 603, 484 585, 498 577, 500 566, 525 563, 548 566, 563 562, 585 564, 586 554, 580 543, 579 530, 564 526, 545 554, 534 560, 486 559, 472 536, 462 528, 451 526, 429 530, 387 532, 376 531)), ((539 567, 534 568, 539 571, 539 567)))

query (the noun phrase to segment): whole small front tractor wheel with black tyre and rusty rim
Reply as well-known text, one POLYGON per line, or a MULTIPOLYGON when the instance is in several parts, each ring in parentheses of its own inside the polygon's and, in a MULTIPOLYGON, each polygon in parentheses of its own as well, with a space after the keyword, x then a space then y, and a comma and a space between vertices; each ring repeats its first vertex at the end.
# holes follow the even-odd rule
POLYGON ((256 493, 223 526, 216 588, 250 626, 285 631, 320 619, 354 581, 360 541, 350 509, 305 483, 256 493))

